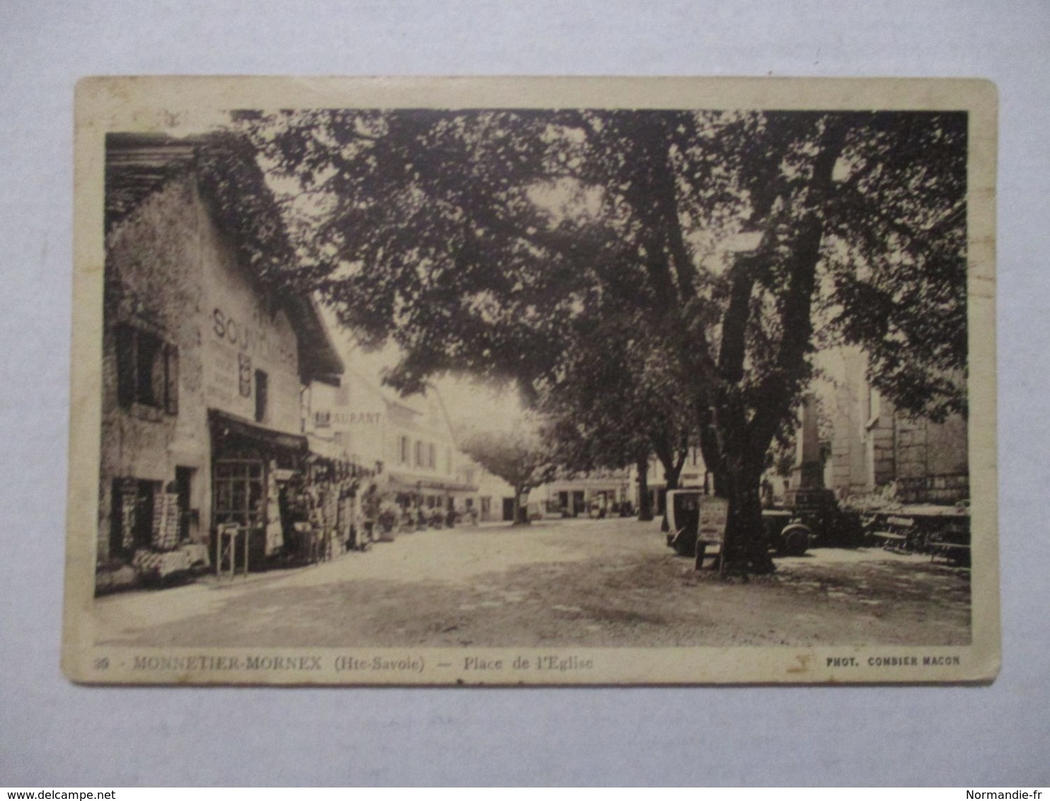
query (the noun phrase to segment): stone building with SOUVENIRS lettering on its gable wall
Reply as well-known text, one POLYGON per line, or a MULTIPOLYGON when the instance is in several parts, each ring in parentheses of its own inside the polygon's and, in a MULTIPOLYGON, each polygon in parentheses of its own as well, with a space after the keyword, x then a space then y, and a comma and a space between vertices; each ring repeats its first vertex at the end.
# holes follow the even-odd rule
POLYGON ((235 142, 111 133, 105 199, 100 587, 132 562, 207 562, 223 523, 270 554, 277 483, 307 454, 302 385, 342 363, 272 269, 291 249, 261 171, 235 142))

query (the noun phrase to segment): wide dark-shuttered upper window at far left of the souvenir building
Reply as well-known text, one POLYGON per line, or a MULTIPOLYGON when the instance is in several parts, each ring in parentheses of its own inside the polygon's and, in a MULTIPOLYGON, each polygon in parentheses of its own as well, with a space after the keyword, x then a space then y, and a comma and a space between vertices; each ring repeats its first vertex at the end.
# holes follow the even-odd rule
POLYGON ((130 325, 117 329, 117 399, 178 414, 178 349, 130 325))

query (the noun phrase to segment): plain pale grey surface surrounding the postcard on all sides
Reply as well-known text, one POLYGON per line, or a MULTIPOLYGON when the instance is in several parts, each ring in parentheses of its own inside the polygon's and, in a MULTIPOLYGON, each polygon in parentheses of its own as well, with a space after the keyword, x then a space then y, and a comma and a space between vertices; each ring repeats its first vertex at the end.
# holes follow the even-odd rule
POLYGON ((0 3, 0 785, 1048 784, 1050 4, 0 3), (1001 99, 984 688, 90 689, 59 672, 86 75, 962 76, 1001 99))

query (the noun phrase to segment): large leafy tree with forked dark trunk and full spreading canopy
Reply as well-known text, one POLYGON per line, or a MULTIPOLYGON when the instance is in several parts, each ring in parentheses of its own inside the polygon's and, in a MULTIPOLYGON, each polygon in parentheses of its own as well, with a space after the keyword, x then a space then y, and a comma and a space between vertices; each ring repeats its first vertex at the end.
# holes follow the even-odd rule
MULTIPOLYGON (((681 381, 727 558, 771 568, 759 483, 816 349, 899 407, 965 413, 960 113, 324 111, 253 121, 308 276, 392 382, 450 368, 539 400, 617 303, 681 381)), ((639 358, 646 358, 645 356, 639 358)))

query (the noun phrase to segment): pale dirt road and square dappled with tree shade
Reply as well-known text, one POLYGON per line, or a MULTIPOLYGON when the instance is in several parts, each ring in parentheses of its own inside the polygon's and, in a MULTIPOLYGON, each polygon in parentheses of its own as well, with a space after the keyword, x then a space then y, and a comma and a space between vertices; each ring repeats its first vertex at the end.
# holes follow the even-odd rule
POLYGON ((100 644, 139 646, 964 645, 969 573, 813 550, 728 583, 658 525, 423 531, 322 565, 97 599, 100 644))

